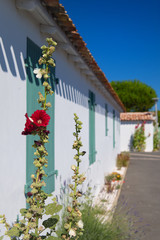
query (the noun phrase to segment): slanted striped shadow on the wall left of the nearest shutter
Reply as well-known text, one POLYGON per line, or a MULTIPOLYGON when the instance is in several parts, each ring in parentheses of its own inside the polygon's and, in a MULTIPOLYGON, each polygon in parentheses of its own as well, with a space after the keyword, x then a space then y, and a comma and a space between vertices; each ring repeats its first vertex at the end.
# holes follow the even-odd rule
POLYGON ((3 41, 0 37, 0 66, 3 72, 11 72, 14 77, 19 75, 21 80, 26 79, 24 58, 18 43, 13 47, 9 40, 3 41))

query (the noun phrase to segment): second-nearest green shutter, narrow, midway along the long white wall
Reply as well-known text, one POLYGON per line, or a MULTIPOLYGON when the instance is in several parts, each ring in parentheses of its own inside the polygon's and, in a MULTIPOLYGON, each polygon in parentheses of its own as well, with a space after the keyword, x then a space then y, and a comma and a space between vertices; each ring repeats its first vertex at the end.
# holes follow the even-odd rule
POLYGON ((89 91, 89 163, 92 164, 95 160, 95 94, 89 91))

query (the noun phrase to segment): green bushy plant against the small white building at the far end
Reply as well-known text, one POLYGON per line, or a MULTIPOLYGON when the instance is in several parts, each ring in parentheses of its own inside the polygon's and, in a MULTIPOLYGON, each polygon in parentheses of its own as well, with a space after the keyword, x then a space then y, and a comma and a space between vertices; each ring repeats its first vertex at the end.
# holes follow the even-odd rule
POLYGON ((135 133, 133 135, 133 149, 138 152, 143 152, 146 147, 146 137, 145 137, 145 123, 137 125, 135 127, 135 133))

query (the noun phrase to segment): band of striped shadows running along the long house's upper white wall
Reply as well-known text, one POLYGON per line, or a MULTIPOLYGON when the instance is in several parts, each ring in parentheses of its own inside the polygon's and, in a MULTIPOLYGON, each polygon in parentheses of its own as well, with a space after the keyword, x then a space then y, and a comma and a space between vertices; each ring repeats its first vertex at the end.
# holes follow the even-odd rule
MULTIPOLYGON (((26 42, 22 43, 10 39, 9 36, 0 37, 0 67, 3 72, 10 72, 14 77, 20 77, 21 80, 26 80, 26 69, 24 64, 24 51, 22 48, 26 46, 26 42), (19 44, 20 43, 20 44, 19 44)), ((58 77, 58 76, 56 76, 58 77)), ((72 79, 73 80, 73 79, 72 79)), ((89 89, 88 89, 89 90, 89 89)), ((81 84, 76 84, 74 81, 66 79, 60 80, 56 85, 56 93, 61 97, 79 104, 88 109, 88 90, 84 89, 81 84)), ((106 104, 107 100, 106 100, 106 104)), ((104 101, 98 99, 96 95, 95 111, 105 115, 104 101)), ((108 116, 112 117, 112 107, 108 108, 108 116)))

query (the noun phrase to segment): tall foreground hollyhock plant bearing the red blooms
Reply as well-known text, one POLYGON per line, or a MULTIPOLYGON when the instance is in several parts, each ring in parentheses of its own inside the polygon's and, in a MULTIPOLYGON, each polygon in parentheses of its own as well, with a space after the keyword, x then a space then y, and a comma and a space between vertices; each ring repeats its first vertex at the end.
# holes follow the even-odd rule
MULTIPOLYGON (((7 223, 5 215, 0 215, 0 223, 4 224, 6 228, 5 235, 10 239, 19 240, 42 240, 42 239, 57 239, 58 237, 53 237, 55 234, 55 225, 59 220, 57 213, 62 209, 62 206, 57 204, 55 198, 53 202, 46 205, 45 200, 50 196, 47 194, 43 187, 46 186, 44 182, 44 177, 47 176, 44 168, 48 165, 48 152, 45 144, 48 143, 47 125, 49 124, 50 116, 46 113, 50 103, 47 103, 47 95, 52 95, 52 87, 48 83, 48 76, 50 69, 53 67, 52 54, 54 52, 53 46, 56 43, 52 39, 46 39, 48 46, 42 47, 41 63, 43 64, 43 70, 35 69, 34 73, 37 78, 43 76, 44 82, 44 97, 39 93, 38 103, 41 104, 42 110, 36 110, 31 117, 25 114, 26 123, 22 135, 37 135, 38 140, 34 141, 32 147, 35 148, 33 164, 35 166, 35 174, 31 175, 31 185, 28 193, 26 194, 26 202, 28 204, 27 208, 22 208, 20 210, 21 217, 18 222, 13 225, 7 223), (52 64, 50 64, 50 62, 52 64), (45 69, 44 69, 45 68, 45 69), (45 220, 43 221, 45 215, 45 220), (46 219, 46 216, 48 218, 46 219), (44 234, 44 231, 47 230, 44 234), (43 235, 44 234, 44 235, 43 235)), ((3 236, 0 236, 0 240, 3 236)))

